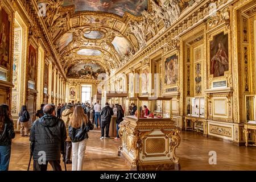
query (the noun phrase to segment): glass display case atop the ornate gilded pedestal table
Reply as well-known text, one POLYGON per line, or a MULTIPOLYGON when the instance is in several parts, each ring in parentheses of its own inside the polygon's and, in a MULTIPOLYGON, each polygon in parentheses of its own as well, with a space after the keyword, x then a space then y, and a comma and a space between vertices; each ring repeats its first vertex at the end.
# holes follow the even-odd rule
POLYGON ((125 99, 125 117, 141 119, 171 119, 171 98, 170 97, 133 97, 125 99), (134 107, 131 107, 134 104, 134 107), (144 106, 147 106, 149 114, 144 106), (136 110, 136 111, 133 111, 136 110), (132 112, 133 111, 133 112, 132 112))

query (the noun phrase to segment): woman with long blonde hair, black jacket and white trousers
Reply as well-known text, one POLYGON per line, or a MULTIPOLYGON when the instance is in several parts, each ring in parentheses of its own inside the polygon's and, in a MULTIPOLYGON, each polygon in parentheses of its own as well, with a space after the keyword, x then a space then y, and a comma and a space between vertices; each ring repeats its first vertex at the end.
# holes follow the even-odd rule
POLYGON ((69 121, 69 137, 72 141, 72 171, 82 171, 88 131, 93 129, 92 123, 81 105, 77 105, 69 121))

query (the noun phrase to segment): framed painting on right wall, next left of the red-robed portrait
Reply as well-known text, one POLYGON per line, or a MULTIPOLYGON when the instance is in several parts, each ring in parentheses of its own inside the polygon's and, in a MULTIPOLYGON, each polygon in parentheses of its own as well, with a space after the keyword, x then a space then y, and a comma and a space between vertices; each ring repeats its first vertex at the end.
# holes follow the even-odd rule
POLYGON ((163 61, 163 93, 177 92, 179 81, 179 58, 177 53, 164 56, 163 61))

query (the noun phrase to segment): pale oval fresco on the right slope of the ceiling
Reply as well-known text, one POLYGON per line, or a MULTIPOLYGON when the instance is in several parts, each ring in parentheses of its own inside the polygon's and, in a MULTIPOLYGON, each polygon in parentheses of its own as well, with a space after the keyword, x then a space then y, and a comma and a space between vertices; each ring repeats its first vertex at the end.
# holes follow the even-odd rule
POLYGON ((129 50, 131 49, 129 42, 120 36, 115 36, 112 44, 115 51, 117 51, 121 57, 128 55, 129 50))

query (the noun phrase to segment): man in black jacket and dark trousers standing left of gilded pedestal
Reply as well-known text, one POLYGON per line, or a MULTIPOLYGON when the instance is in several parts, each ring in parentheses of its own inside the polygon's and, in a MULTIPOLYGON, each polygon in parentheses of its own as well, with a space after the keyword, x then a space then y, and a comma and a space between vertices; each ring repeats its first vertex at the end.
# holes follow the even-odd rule
POLYGON ((104 129, 106 127, 106 139, 109 139, 109 125, 112 118, 112 115, 114 115, 113 109, 109 107, 108 102, 105 104, 106 106, 103 107, 103 109, 100 112, 101 115, 101 138, 104 139, 104 129))

